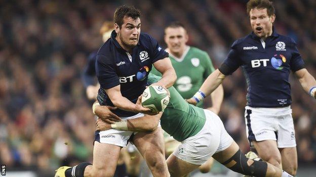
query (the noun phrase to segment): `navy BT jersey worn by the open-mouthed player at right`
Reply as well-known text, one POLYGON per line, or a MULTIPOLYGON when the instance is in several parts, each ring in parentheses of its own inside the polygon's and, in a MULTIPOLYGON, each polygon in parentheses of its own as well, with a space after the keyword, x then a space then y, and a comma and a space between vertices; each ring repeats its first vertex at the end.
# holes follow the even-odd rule
POLYGON ((248 85, 247 105, 282 107, 292 102, 290 70, 304 68, 304 62, 295 41, 273 29, 264 43, 253 32, 236 40, 219 70, 230 75, 240 66, 248 85))

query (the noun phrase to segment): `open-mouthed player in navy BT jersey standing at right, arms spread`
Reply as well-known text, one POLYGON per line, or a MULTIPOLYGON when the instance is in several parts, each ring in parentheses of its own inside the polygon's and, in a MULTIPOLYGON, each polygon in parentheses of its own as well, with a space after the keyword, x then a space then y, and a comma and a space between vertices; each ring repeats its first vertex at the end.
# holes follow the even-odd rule
POLYGON ((290 71, 303 89, 316 98, 316 81, 304 68, 293 39, 273 28, 274 7, 268 0, 251 0, 247 13, 253 32, 236 40, 224 63, 188 101, 196 104, 242 67, 248 84, 245 122, 248 140, 259 156, 292 175, 297 151, 292 119, 290 71))

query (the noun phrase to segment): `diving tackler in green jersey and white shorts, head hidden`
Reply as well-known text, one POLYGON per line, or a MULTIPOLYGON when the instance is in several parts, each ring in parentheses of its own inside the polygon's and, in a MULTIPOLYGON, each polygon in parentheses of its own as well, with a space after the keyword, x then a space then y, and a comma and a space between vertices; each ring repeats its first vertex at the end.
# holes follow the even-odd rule
MULTIPOLYGON (((160 77, 149 74, 148 84, 159 81, 160 77)), ((97 121, 97 130, 153 131, 159 122, 162 128, 181 144, 167 159, 171 176, 184 176, 198 168, 211 156, 229 169, 254 176, 289 177, 287 172, 263 161, 248 159, 239 146, 226 132, 220 118, 208 109, 188 104, 174 87, 169 88, 170 102, 164 112, 155 116, 145 115, 133 120, 124 120, 112 125, 97 121)), ((141 104, 141 97, 138 104, 141 104)), ((103 106, 104 107, 104 106, 103 106)), ((102 106, 94 111, 104 115, 102 106)))

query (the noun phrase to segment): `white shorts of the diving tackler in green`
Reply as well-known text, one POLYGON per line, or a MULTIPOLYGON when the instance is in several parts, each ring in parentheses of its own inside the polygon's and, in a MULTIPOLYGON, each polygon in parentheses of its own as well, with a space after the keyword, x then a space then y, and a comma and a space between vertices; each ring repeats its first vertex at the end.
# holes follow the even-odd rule
POLYGON ((213 154, 227 149, 233 142, 219 116, 207 109, 204 112, 206 122, 202 130, 182 141, 173 152, 177 158, 195 165, 202 165, 213 154))

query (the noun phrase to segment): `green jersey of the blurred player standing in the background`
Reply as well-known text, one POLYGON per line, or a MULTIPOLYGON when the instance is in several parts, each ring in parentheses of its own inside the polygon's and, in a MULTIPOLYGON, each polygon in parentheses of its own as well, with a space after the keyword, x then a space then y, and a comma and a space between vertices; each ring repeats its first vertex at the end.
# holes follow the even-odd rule
MULTIPOLYGON (((169 53, 169 58, 177 74, 177 81, 173 86, 185 99, 191 98, 215 70, 208 53, 196 47, 188 46, 182 58, 176 58, 171 53, 169 53)), ((162 76, 154 67, 151 73, 162 76)), ((197 106, 202 107, 203 101, 197 106)))

